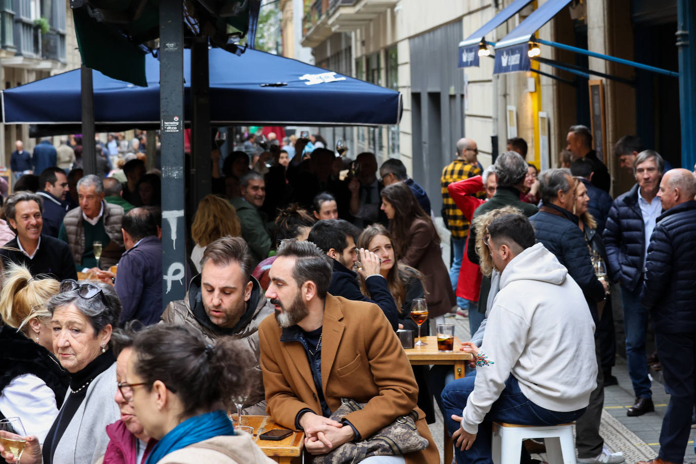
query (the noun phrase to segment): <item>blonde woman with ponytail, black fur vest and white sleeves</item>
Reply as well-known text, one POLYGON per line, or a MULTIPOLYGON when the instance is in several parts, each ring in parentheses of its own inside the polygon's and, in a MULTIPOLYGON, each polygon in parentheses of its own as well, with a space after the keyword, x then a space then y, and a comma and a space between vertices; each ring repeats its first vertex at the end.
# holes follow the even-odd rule
POLYGON ((46 303, 58 293, 54 279, 32 278, 10 263, 0 291, 0 418, 19 417, 40 441, 63 404, 70 377, 53 355, 46 303))

